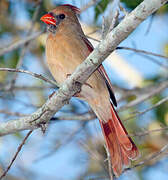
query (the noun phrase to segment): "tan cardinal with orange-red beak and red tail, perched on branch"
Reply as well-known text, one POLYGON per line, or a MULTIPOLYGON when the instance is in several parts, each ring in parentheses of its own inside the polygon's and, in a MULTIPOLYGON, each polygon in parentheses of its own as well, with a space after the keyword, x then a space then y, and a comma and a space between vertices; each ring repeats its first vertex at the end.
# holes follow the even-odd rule
MULTIPOLYGON (((47 64, 59 84, 93 51, 78 21, 78 13, 80 10, 77 7, 65 4, 41 17, 49 32, 46 42, 47 64)), ((119 176, 124 166, 129 165, 130 159, 136 159, 139 152, 114 109, 113 104, 116 106, 117 103, 103 65, 89 77, 77 97, 87 101, 97 115, 114 174, 119 176)))

